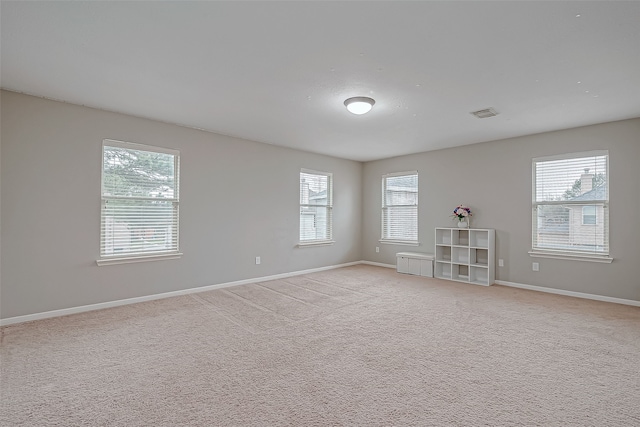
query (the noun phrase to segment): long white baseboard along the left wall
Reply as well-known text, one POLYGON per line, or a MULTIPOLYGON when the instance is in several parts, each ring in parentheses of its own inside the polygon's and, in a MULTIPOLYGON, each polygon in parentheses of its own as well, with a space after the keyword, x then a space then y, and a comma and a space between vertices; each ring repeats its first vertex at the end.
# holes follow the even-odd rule
POLYGON ((206 292, 214 289, 228 288, 231 286, 246 285, 248 283, 265 282, 268 280, 284 279, 287 277, 300 276, 302 274, 316 273, 318 271, 333 270, 341 267, 349 267, 352 265, 362 264, 362 261, 348 262, 346 264, 330 265, 327 267, 312 268, 309 270, 294 271, 291 273, 275 274, 272 276, 255 277, 253 279, 238 280, 235 282, 219 283, 217 285, 202 286, 199 288, 182 289, 179 291, 165 292, 162 294, 145 295, 136 298, 127 298, 117 301, 102 302, 98 304, 89 304, 79 307, 64 308, 61 310, 45 311, 42 313, 27 314, 24 316, 9 317, 0 319, 0 326, 14 325, 16 323, 31 322, 33 320, 49 319, 52 317, 68 316, 69 314, 84 313, 87 311, 102 310, 105 308, 119 307, 122 305, 137 304, 139 302, 154 301, 163 298, 171 298, 180 295, 194 294, 198 292, 206 292))

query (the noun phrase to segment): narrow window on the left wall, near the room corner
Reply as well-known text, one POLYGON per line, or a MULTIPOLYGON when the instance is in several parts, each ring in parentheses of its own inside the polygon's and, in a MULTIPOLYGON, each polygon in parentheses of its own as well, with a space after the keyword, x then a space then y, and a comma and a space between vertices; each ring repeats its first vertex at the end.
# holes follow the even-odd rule
POLYGON ((332 243, 333 178, 300 171, 300 244, 332 243))

